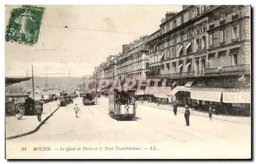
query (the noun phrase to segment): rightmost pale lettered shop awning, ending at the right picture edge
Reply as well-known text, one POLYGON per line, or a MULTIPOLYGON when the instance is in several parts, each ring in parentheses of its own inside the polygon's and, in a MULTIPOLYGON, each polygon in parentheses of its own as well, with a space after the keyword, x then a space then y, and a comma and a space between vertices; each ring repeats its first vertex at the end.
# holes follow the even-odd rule
POLYGON ((223 92, 222 101, 224 103, 251 103, 250 92, 223 92))

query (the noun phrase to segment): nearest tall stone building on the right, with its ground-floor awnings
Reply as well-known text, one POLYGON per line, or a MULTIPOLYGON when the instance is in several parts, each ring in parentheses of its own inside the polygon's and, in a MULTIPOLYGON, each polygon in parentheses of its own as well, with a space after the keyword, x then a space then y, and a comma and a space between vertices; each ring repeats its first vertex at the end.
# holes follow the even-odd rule
POLYGON ((179 86, 173 100, 248 108, 249 16, 249 6, 190 5, 167 12, 147 42, 147 77, 167 79, 172 89, 179 86))

